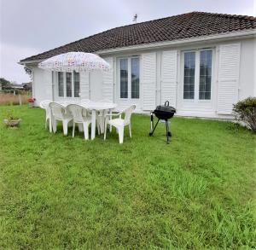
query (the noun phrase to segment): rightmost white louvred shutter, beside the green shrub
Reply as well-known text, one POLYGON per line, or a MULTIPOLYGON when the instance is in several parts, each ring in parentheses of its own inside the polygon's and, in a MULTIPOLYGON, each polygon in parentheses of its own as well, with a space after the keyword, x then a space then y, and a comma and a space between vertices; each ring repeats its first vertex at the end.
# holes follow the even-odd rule
POLYGON ((232 113, 238 100, 240 47, 240 43, 219 46, 218 113, 232 113))

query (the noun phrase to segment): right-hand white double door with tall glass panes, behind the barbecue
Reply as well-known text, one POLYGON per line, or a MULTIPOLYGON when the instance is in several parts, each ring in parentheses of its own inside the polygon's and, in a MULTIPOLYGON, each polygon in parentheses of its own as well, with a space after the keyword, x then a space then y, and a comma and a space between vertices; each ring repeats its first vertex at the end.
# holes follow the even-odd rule
POLYGON ((212 112, 213 49, 183 51, 181 61, 182 111, 212 112))

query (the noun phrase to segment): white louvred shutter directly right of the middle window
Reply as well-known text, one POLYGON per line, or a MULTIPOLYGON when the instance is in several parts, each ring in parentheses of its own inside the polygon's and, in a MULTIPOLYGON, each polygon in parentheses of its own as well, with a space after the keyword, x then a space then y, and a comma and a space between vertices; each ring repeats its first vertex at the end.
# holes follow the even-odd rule
POLYGON ((143 54, 143 110, 155 108, 156 53, 143 54))

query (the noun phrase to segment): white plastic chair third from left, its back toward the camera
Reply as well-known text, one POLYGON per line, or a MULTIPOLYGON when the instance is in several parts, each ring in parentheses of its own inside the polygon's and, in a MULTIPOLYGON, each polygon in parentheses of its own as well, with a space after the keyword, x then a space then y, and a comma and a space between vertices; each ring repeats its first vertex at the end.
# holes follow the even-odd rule
POLYGON ((83 108, 82 106, 78 104, 70 104, 67 106, 67 109, 70 111, 70 113, 73 114, 73 137, 74 137, 74 131, 75 131, 75 125, 81 124, 84 128, 84 139, 89 139, 89 125, 91 123, 91 116, 89 113, 89 110, 86 108, 83 108))

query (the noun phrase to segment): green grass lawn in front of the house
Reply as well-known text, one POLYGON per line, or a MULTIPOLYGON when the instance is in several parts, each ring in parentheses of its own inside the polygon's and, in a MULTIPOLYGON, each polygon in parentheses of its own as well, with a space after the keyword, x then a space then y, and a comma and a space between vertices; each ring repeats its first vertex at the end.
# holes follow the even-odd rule
POLYGON ((256 137, 229 122, 172 119, 123 145, 44 129, 44 111, 0 108, 1 249, 253 249, 256 137))

